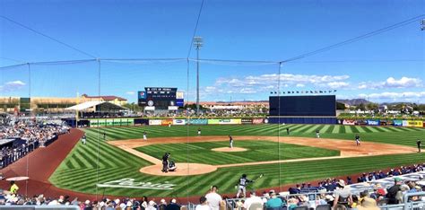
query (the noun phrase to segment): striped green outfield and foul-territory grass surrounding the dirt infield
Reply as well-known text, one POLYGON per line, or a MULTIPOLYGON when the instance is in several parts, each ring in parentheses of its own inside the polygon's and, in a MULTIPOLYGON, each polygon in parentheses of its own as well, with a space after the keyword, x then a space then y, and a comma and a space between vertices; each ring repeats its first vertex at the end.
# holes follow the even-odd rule
MULTIPOLYGON (((286 127, 290 127, 290 136, 315 137, 317 125, 240 125, 240 126, 201 126, 203 136, 287 136, 286 127)), ((415 127, 350 127, 320 125, 320 136, 325 138, 354 139, 360 134, 362 141, 386 144, 415 146, 416 140, 424 139, 422 128, 415 127), (342 128, 343 127, 343 128, 342 128)), ((141 138, 143 131, 149 138, 163 136, 195 136, 198 127, 107 127, 85 129, 88 144, 77 144, 73 151, 56 169, 50 181, 58 188, 67 188, 78 192, 128 197, 186 197, 199 196, 211 185, 218 185, 221 193, 234 192, 234 184, 242 173, 248 178, 264 173, 250 188, 270 188, 283 184, 298 183, 313 179, 325 179, 338 175, 376 171, 405 164, 425 162, 423 153, 409 153, 386 156, 346 158, 324 161, 288 162, 281 164, 263 164, 222 168, 209 174, 187 177, 160 177, 140 173, 140 168, 150 165, 132 154, 111 146, 102 139, 103 132, 107 140, 141 138), (98 155, 99 153, 99 155, 98 155), (98 158, 99 157, 99 158, 98 158), (96 183, 117 179, 134 179, 137 182, 176 184, 173 190, 132 189, 132 188, 96 188, 96 183)), ((236 138, 236 137, 235 137, 236 138)), ((423 141, 422 141, 423 142, 423 141)), ((249 143, 249 142, 247 142, 249 143)), ((255 142, 252 142, 255 143, 255 142)), ((225 144, 225 143, 223 143, 225 144)), ((239 144, 238 142, 236 144, 239 144)), ((186 151, 195 151, 186 146, 186 151)), ((164 144, 164 146, 167 146, 164 144)), ((224 145, 226 146, 226 144, 224 145)), ((252 145, 252 146, 255 146, 252 145)), ((275 153, 277 148, 274 148, 275 153)), ((277 154, 276 154, 277 155, 277 154)), ((281 154, 283 155, 283 154, 281 154)), ((243 156, 243 155, 242 155, 243 156)), ((191 162, 192 155, 186 153, 186 161, 191 162)), ((183 159, 184 160, 184 159, 183 159)), ((214 160, 212 158, 212 160, 214 160)))

